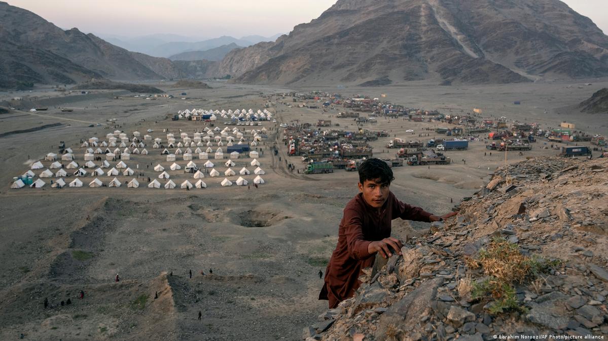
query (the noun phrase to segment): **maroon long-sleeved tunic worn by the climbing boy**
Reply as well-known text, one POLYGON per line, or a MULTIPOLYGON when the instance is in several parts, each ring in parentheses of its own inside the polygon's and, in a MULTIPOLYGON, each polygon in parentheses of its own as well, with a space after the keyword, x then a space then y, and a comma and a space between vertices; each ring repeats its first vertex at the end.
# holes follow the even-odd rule
POLYGON ((374 263, 374 254, 367 252, 368 245, 390 237, 393 219, 430 222, 430 215, 397 200, 393 192, 389 192, 380 212, 365 203, 362 193, 348 201, 340 221, 338 244, 325 269, 325 284, 319 300, 329 300, 330 308, 336 308, 338 303, 353 296, 361 285, 361 269, 374 263))

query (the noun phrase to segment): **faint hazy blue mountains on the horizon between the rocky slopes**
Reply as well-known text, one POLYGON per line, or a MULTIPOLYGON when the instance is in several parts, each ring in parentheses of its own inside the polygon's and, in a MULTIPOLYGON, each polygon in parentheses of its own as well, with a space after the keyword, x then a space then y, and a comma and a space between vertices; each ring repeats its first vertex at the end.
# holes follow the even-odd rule
POLYGON ((178 35, 149 35, 136 38, 108 36, 106 40, 123 49, 145 53, 150 56, 169 58, 182 52, 204 51, 230 44, 247 47, 262 41, 275 41, 279 36, 281 35, 270 37, 250 35, 240 39, 232 36, 221 36, 219 38, 197 40, 197 38, 178 35))

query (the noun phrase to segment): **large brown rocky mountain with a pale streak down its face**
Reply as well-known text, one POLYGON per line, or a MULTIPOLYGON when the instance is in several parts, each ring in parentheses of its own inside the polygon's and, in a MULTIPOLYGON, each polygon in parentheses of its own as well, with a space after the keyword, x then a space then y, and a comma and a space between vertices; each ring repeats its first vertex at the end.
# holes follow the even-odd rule
POLYGON ((608 36, 559 0, 339 0, 275 42, 233 50, 242 83, 514 83, 608 75, 608 36))

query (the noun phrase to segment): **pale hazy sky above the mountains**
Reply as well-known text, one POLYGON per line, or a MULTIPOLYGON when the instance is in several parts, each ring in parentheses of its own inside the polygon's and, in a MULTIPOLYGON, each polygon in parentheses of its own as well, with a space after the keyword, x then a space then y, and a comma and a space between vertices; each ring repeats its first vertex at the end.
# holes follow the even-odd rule
MULTIPOLYGON (((140 36, 271 36, 317 18, 336 0, 7 0, 63 29, 140 36)), ((608 1, 565 0, 608 33, 608 1)))

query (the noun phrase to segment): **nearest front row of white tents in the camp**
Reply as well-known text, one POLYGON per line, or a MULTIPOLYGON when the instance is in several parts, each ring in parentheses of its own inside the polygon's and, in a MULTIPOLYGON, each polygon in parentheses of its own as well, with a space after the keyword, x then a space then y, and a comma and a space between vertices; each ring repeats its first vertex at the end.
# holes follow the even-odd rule
MULTIPOLYGON (((263 184, 265 181, 263 178, 260 177, 260 175, 258 175, 257 177, 254 178, 254 183, 255 184, 263 184)), ((234 182, 228 180, 228 178, 224 178, 224 180, 222 180, 221 185, 222 186, 232 186, 233 184, 237 184, 237 186, 247 186, 247 184, 249 184, 249 181, 245 180, 243 177, 238 177, 238 179, 234 182)), ((44 182, 41 179, 38 179, 36 181, 34 181, 30 187, 32 188, 42 188, 46 185, 46 182, 44 182)), ((19 189, 22 187, 25 187, 26 184, 21 180, 18 179, 15 182, 13 182, 13 184, 10 186, 13 189, 19 189)), ((65 187, 66 186, 66 182, 63 180, 63 178, 57 179, 57 181, 55 181, 52 184, 52 187, 65 187)), ((68 187, 83 187, 84 183, 78 179, 75 178, 71 183, 67 184, 68 187)), ((88 185, 89 187, 102 187, 103 186, 103 182, 101 180, 99 180, 98 178, 94 178, 88 185)), ((120 183, 120 180, 118 180, 118 178, 114 178, 112 179, 109 183, 108 183, 108 187, 120 187, 122 186, 122 183, 120 183)), ((137 188, 139 187, 139 181, 137 181, 137 179, 132 179, 131 181, 129 181, 126 184, 127 187, 129 188, 137 188)), ((151 181, 148 184, 149 188, 161 188, 161 183, 154 179, 153 181, 151 181)), ((163 187, 165 187, 166 189, 173 189, 176 187, 176 184, 173 182, 173 180, 168 180, 163 187)), ((192 188, 192 187, 196 187, 196 188, 207 188, 207 184, 202 181, 202 180, 198 180, 196 181, 194 184, 192 184, 190 181, 185 180, 184 182, 181 183, 180 188, 192 188)))

